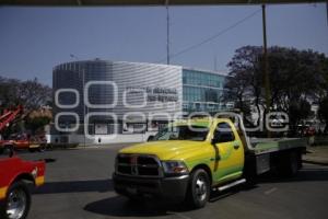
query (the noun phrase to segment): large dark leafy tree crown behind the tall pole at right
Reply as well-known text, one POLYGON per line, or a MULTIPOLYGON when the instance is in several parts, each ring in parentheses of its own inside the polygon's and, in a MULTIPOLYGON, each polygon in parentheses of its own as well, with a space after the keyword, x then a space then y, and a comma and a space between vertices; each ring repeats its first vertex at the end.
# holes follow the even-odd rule
POLYGON ((308 101, 317 101, 327 94, 327 60, 325 55, 313 50, 278 46, 268 48, 271 99, 270 110, 267 110, 262 47, 242 47, 227 64, 226 100, 235 99, 242 106, 253 105, 258 113, 282 111, 289 114, 291 123, 298 123, 308 116, 308 101))

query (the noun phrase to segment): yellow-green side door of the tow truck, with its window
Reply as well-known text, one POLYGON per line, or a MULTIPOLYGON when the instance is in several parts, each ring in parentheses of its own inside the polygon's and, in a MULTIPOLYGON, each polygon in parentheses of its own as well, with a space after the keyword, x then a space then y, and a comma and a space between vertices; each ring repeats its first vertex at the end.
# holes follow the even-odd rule
POLYGON ((220 122, 213 134, 216 159, 213 163, 215 183, 239 177, 244 168, 244 148, 233 124, 220 122))

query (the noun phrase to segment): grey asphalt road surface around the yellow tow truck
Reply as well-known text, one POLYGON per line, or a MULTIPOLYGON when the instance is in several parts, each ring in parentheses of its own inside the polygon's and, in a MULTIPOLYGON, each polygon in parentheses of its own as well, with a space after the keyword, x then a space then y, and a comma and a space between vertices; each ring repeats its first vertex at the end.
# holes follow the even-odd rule
POLYGON ((47 159, 46 184, 35 191, 28 219, 101 218, 323 218, 328 217, 328 166, 305 164, 294 178, 269 175, 254 188, 215 194, 203 209, 148 201, 133 204, 113 191, 119 147, 24 153, 47 159))

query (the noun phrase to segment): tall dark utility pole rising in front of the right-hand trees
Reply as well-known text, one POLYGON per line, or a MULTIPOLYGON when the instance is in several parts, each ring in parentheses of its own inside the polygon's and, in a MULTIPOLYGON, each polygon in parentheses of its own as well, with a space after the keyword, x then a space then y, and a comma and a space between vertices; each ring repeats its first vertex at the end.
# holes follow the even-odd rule
MULTIPOLYGON (((262 4, 262 30, 263 30, 263 85, 265 85, 265 96, 266 96, 266 111, 270 112, 271 103, 271 89, 270 89, 270 78, 268 71, 268 48, 267 48, 267 20, 266 20, 266 4, 262 4)), ((266 117, 266 115, 263 115, 266 117)), ((267 123, 267 120, 266 120, 267 123)), ((271 134, 268 131, 268 137, 271 134)))

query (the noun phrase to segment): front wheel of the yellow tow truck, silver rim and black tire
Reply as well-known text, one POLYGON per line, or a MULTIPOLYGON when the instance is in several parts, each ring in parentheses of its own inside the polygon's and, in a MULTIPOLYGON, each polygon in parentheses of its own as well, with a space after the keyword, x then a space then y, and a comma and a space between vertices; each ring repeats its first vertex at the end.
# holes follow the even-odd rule
POLYGON ((210 180, 208 173, 198 169, 191 173, 187 192, 187 201, 192 208, 202 208, 210 197, 210 180))

